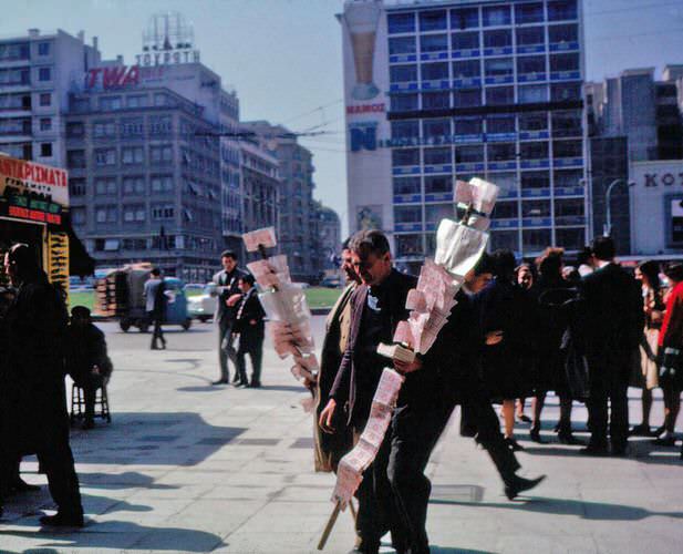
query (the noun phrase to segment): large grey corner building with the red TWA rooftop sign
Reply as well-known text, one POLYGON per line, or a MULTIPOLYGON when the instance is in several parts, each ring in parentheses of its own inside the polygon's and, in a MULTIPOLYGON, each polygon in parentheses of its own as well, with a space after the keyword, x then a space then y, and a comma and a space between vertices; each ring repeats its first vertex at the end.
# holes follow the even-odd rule
POLYGON ((72 83, 72 218, 99 266, 146 260, 206 281, 220 250, 241 246, 239 104, 183 20, 158 18, 142 64, 103 61, 72 83))

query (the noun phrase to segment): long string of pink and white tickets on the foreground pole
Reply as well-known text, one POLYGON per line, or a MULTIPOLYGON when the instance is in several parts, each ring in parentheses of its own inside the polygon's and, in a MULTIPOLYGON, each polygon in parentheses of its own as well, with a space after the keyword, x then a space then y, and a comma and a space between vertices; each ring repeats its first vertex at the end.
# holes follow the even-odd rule
MULTIPOLYGON (((457 182, 456 197, 465 208, 465 216, 460 222, 442 219, 436 234, 436 259, 425 259, 417 287, 406 298, 410 317, 396 326, 394 345, 380 345, 379 353, 411 363, 416 353, 424 355, 432 348, 456 304, 455 295, 465 275, 486 248, 488 216, 497 196, 498 187, 486 181, 475 177, 469 183, 457 182)), ((384 368, 363 434, 339 463, 332 501, 342 510, 360 485, 363 471, 377 454, 403 381, 400 373, 384 368)))

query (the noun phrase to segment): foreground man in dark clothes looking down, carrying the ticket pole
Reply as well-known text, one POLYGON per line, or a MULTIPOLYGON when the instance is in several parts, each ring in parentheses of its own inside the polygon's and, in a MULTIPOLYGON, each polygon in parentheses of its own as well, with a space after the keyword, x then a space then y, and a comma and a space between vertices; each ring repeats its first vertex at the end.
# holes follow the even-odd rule
POLYGON ((319 423, 325 432, 344 423, 356 435, 365 431, 352 453, 351 468, 364 468, 374 456, 360 484, 358 472, 340 465, 343 474, 338 473, 341 486, 358 485, 356 552, 376 553, 387 531, 396 552, 428 552, 425 523, 431 484, 424 470, 443 430, 443 407, 435 399, 439 397, 438 360, 447 357, 437 342, 423 357, 394 357, 397 373, 384 369, 391 362, 377 353, 377 346, 392 343, 399 324, 405 326, 406 299, 417 279, 392 267, 389 242, 379 230, 356 233, 350 249, 362 284, 350 300, 346 350, 319 423), (376 429, 368 429, 369 421, 376 429))

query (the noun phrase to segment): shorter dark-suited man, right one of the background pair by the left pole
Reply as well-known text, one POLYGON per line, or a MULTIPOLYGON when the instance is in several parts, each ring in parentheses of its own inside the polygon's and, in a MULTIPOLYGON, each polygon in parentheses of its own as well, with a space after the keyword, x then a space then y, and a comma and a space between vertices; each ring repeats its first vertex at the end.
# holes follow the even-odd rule
POLYGON ((249 274, 239 278, 242 296, 237 307, 234 331, 239 334, 239 348, 237 349, 239 387, 258 389, 261 386, 266 312, 256 294, 253 283, 253 276, 249 274), (251 381, 247 380, 246 355, 251 358, 251 381))

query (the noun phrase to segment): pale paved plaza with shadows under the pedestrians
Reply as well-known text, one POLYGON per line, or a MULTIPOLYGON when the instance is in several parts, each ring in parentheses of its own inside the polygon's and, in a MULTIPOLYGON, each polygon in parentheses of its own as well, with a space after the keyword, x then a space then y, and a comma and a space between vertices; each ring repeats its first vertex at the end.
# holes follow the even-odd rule
MULTIPOLYGON (((313 317, 320 346, 324 317, 313 317)), ((41 531, 52 509, 43 486, 9 501, 0 524, 2 552, 314 552, 332 511, 334 479, 312 464, 308 392, 266 340, 263 388, 213 387, 218 378, 211 324, 167 328, 168 349, 151 351, 149 335, 106 331, 114 373, 111 424, 74 429, 86 526, 41 531)), ((70 389, 70 386, 69 386, 70 389)), ((631 422, 640 392, 630 390, 631 422)), ((655 393, 652 422, 662 418, 655 393)), ((544 412, 548 444, 528 441, 518 425, 522 473, 548 479, 509 502, 487 454, 458 434, 457 416, 434 452, 427 530, 433 552, 680 552, 683 461, 679 448, 631 441, 628 458, 584 458, 557 442, 557 398, 544 412)), ((586 439, 586 410, 575 407, 586 439)), ((34 458, 23 476, 44 484, 34 458)), ((385 541, 389 537, 385 537, 385 541)), ((324 552, 354 542, 349 512, 340 514, 324 552)), ((393 552, 386 543, 382 552, 393 552)))

